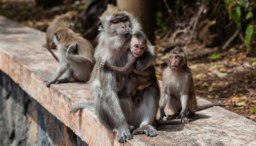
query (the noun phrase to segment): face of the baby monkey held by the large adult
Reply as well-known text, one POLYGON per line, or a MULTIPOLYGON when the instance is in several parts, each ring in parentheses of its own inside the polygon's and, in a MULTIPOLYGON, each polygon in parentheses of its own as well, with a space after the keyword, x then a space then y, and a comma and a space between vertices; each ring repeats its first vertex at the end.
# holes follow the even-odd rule
POLYGON ((146 44, 143 44, 143 40, 132 37, 131 39, 131 52, 134 57, 139 57, 144 53, 146 44))

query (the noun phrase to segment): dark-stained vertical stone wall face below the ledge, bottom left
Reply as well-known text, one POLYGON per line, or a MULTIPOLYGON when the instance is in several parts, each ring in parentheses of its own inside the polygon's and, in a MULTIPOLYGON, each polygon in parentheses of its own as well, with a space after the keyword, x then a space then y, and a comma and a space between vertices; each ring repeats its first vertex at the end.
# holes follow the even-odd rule
POLYGON ((0 145, 86 145, 0 71, 0 145))

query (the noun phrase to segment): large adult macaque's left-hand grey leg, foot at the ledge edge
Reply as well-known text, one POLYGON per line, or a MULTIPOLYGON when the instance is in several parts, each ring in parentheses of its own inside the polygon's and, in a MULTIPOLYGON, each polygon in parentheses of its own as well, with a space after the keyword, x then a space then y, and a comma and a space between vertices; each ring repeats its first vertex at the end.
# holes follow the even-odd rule
POLYGON ((92 95, 95 95, 95 110, 100 122, 116 132, 118 142, 124 143, 126 139, 132 139, 117 94, 108 91, 103 95, 101 88, 98 88, 92 91, 92 95))

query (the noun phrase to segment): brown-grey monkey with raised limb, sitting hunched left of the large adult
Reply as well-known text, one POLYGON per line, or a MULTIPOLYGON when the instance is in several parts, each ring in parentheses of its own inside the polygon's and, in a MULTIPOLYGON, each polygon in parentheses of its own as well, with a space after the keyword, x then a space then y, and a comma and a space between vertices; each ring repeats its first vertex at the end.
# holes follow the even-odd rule
POLYGON ((71 77, 78 81, 88 81, 92 71, 93 47, 89 41, 66 27, 59 27, 54 33, 54 42, 59 54, 59 67, 47 79, 46 85, 68 82, 71 77), (63 79, 57 80, 63 74, 63 79))

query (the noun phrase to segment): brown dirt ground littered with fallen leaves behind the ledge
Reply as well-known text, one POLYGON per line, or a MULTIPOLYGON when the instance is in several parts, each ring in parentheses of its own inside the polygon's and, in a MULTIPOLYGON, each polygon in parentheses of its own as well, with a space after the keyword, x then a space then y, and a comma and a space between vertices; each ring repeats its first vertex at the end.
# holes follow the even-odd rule
MULTIPOLYGON (((82 11, 87 1, 65 1, 60 6, 44 10, 33 0, 0 1, 0 14, 29 27, 46 31, 54 15, 65 13, 76 7, 82 11)), ((76 32, 82 32, 78 23, 76 32)), ((166 40, 164 40, 166 41, 166 40)), ((165 47, 163 38, 156 34, 155 46, 157 78, 162 80, 168 53, 161 53, 165 47)), ((203 48, 197 44, 182 47, 193 72, 196 96, 211 102, 222 102, 226 109, 256 121, 256 49, 243 45, 222 50, 219 47, 203 48)))

